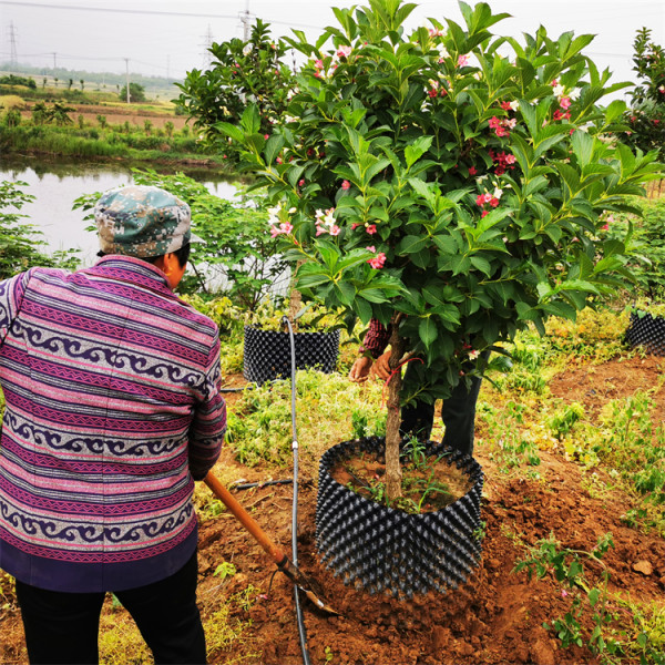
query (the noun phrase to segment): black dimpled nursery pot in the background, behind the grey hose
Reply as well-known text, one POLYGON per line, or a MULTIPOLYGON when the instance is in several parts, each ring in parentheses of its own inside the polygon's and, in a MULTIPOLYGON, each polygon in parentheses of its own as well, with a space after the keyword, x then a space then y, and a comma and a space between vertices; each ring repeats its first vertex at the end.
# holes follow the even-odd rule
MULTIPOLYGON (((339 330, 332 332, 295 332, 296 369, 319 369, 330 374, 339 355, 339 330)), ((291 350, 288 331, 263 330, 245 326, 243 376, 263 385, 288 379, 291 350)))

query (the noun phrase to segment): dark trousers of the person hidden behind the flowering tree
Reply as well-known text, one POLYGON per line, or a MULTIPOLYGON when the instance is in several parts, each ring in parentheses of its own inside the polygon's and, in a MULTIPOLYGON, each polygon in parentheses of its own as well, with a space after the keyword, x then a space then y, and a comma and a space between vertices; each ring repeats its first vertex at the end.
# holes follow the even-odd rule
MULTIPOLYGON (((466 381, 460 381, 441 407, 441 419, 446 426, 442 443, 466 454, 473 454, 475 402, 481 382, 480 377, 472 376, 471 386, 467 389, 466 381)), ((402 408, 399 430, 402 437, 410 434, 419 441, 429 441, 433 423, 434 405, 417 401, 402 408)))

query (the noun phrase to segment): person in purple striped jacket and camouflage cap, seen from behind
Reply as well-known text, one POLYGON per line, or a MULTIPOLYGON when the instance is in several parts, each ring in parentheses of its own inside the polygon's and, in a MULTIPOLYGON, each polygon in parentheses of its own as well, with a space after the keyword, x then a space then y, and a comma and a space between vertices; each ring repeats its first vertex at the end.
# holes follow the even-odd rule
POLYGON ((192 495, 226 407, 217 328, 173 293, 191 213, 127 186, 95 219, 93 267, 0 282, 0 567, 31 663, 96 663, 105 592, 156 663, 205 663, 192 495))

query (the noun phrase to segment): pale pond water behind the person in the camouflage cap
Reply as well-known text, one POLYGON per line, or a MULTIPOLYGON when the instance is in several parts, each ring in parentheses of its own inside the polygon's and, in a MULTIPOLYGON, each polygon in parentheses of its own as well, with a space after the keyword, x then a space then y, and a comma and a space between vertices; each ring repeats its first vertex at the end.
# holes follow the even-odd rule
MULTIPOLYGON (((236 194, 234 184, 214 171, 190 171, 186 174, 203 182, 211 193, 222 198, 233 198, 236 194)), ((72 209, 74 200, 83 194, 126 185, 132 182, 132 172, 126 165, 0 157, 0 181, 28 183, 29 186, 22 187, 22 191, 37 198, 24 205, 21 213, 28 215, 24 222, 34 224, 43 233, 48 243, 44 249, 79 248, 83 265, 91 265, 99 249, 96 234, 85 231, 91 222, 83 221, 83 211, 72 209)))

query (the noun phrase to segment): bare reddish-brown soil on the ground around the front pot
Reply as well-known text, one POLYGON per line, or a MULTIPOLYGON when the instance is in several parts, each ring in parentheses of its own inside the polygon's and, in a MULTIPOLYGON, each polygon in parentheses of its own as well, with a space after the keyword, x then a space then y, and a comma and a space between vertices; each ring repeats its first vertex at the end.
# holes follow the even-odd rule
MULTIPOLYGON (((580 367, 550 381, 553 397, 580 401, 597 410, 610 399, 657 385, 662 358, 633 358, 602 366, 580 367)), ((665 409, 665 396, 655 396, 665 409)), ((234 395, 228 396, 233 408, 234 395)), ((482 519, 487 521, 481 563, 469 582, 446 595, 430 593, 409 602, 372 597, 349 589, 323 566, 315 549, 316 478, 300 480, 298 559, 300 567, 323 586, 326 600, 339 612, 328 616, 303 601, 307 648, 314 664, 348 665, 573 665, 597 663, 587 651, 561 648, 542 627, 563 616, 570 598, 552 577, 529 580, 511 572, 523 553, 553 533, 564 546, 589 551, 598 536, 612 532, 615 548, 604 557, 611 590, 625 597, 662 602, 665 592, 665 541, 623 524, 628 508, 621 493, 590 495, 584 472, 560 454, 541 452, 542 480, 499 473, 483 447, 477 459, 485 472, 482 519)), ((235 467, 237 478, 265 481, 266 470, 247 469, 231 454, 221 461, 235 467)), ((227 473, 227 471, 225 471, 227 473)), ((272 472, 270 472, 272 473, 272 472)), ((288 474, 288 473, 287 473, 288 474)), ((273 484, 238 491, 270 538, 290 553, 291 487, 273 484)), ((232 618, 246 622, 245 644, 212 654, 213 663, 296 665, 304 662, 296 624, 293 587, 275 575, 269 559, 227 514, 208 519, 201 528, 200 604, 204 616, 252 584, 260 590, 248 610, 234 607, 232 618), (232 562, 237 574, 221 582, 214 576, 221 562, 232 562), (269 592, 268 592, 269 590, 269 592), (243 654, 256 656, 239 657, 243 654), (235 658, 238 659, 235 659, 235 658)), ((1 596, 0 596, 1 601, 1 596)), ((617 606, 614 611, 622 612, 617 606)), ((1 616, 1 615, 0 615, 1 616)), ((0 662, 24 662, 20 617, 16 611, 0 621, 0 662)))

